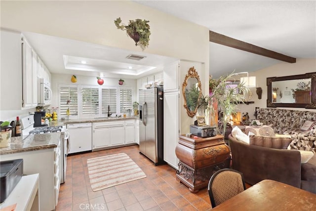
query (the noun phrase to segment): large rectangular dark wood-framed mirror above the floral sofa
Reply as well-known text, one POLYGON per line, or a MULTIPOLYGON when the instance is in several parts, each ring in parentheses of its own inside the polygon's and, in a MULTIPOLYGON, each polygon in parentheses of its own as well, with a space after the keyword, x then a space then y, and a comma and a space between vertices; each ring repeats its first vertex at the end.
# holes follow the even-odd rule
POLYGON ((316 109, 316 72, 267 78, 267 107, 316 109))

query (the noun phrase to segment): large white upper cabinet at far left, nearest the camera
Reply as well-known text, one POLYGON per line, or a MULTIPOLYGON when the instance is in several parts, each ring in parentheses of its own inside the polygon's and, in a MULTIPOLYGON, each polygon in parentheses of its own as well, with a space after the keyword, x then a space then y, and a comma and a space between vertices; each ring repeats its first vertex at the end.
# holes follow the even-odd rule
MULTIPOLYGON (((1 30, 0 109, 21 110, 38 105, 39 57, 19 32, 1 30)), ((46 68, 46 67, 45 67, 46 68)), ((46 77, 50 73, 46 68, 46 77)))

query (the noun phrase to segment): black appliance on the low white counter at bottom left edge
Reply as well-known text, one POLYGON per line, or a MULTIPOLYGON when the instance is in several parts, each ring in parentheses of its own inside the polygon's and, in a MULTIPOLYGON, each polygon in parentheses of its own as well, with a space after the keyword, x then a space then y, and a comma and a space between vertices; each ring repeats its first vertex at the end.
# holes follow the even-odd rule
POLYGON ((15 188, 23 175, 23 159, 0 162, 0 203, 15 188))

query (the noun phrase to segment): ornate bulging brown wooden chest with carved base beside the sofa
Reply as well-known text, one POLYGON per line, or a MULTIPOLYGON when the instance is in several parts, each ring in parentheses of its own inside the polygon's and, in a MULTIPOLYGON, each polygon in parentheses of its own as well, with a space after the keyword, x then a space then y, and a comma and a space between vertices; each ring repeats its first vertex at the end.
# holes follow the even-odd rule
POLYGON ((180 135, 176 147, 179 159, 176 178, 192 193, 207 187, 212 174, 219 169, 229 168, 231 160, 230 149, 223 135, 194 137, 180 135))

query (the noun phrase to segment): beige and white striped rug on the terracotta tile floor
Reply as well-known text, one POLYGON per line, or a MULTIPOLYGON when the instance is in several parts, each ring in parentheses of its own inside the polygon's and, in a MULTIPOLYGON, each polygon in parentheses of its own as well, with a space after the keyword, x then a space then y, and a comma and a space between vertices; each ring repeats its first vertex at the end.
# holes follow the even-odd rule
POLYGON ((87 166, 93 191, 146 177, 125 153, 88 159, 87 166))

